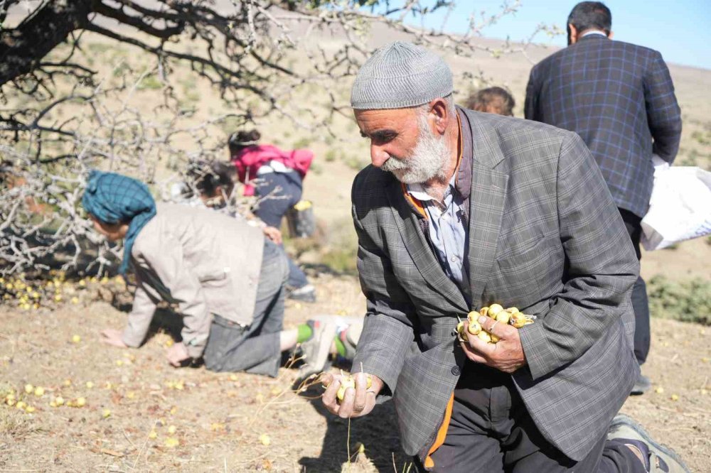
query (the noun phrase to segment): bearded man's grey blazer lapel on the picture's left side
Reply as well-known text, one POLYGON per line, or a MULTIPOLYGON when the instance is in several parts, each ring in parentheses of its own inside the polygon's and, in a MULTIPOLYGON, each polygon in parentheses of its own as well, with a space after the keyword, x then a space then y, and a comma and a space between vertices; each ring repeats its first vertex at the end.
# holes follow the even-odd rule
POLYGON ((442 266, 439 264, 439 260, 434 256, 432 248, 427 242, 427 237, 424 236, 422 228, 419 227, 417 215, 402 195, 402 187, 395 179, 392 181, 387 192, 390 200, 390 210, 392 210, 392 217, 397 230, 405 242, 405 249, 407 249, 410 258, 417 266, 417 270, 422 274, 422 278, 424 278, 428 286, 437 290, 461 312, 469 312, 461 290, 447 277, 447 274, 444 273, 442 266))

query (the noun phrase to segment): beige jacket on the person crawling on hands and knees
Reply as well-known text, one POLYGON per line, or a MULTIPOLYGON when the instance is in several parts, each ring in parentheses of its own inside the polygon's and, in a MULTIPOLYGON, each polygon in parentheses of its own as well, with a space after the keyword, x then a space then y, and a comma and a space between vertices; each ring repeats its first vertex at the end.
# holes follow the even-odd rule
POLYGON ((264 236, 214 210, 158 204, 139 233, 132 263, 138 287, 123 341, 138 347, 160 300, 178 305, 183 343, 203 354, 212 314, 249 325, 254 315, 264 236))

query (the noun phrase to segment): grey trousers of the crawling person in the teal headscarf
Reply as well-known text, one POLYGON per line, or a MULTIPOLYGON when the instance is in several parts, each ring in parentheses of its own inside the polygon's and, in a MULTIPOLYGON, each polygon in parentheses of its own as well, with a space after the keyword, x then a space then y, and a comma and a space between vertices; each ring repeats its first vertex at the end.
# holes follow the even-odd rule
POLYGON ((284 327, 284 285, 288 276, 289 266, 284 252, 271 241, 264 241, 252 324, 242 327, 220 315, 213 315, 205 347, 207 369, 277 376, 282 359, 279 334, 284 327))

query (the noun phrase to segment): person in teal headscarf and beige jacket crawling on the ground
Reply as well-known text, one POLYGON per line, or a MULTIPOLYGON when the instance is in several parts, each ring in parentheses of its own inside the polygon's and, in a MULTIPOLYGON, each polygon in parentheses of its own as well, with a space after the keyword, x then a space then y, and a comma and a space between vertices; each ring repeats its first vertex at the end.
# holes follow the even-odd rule
POLYGON ((119 272, 131 266, 137 280, 127 326, 102 332, 104 342, 139 347, 165 300, 183 315, 182 342, 167 353, 173 366, 204 357, 212 371, 277 376, 281 353, 303 343, 313 368, 323 367, 332 327, 310 321, 282 330, 289 268, 260 229, 212 210, 156 205, 145 184, 96 170, 82 205, 97 232, 124 240, 119 272))

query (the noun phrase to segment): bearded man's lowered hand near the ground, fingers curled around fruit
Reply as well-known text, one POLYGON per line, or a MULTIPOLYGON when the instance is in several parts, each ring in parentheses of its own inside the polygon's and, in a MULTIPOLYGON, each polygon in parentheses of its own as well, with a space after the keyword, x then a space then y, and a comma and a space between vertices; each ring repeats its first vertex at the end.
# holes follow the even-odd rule
POLYGON ((341 387, 341 379, 346 376, 331 373, 324 374, 321 382, 324 386, 328 386, 328 388, 326 388, 326 392, 321 398, 328 411, 344 419, 349 417, 361 417, 373 411, 375 407, 375 396, 377 396, 380 389, 383 388, 383 381, 378 378, 378 376, 371 374, 370 378, 372 382, 370 388, 366 388, 366 376, 368 376, 367 373, 353 374, 355 389, 346 389, 343 401, 338 403, 336 393, 338 392, 338 388, 341 387))

